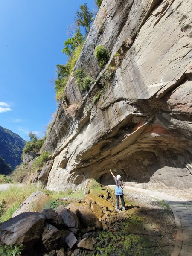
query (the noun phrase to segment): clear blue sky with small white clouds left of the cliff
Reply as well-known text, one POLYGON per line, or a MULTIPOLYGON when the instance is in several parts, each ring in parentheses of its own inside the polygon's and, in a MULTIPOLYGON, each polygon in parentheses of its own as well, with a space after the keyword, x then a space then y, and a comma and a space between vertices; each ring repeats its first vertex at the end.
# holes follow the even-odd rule
POLYGON ((29 140, 52 121, 56 64, 75 12, 94 0, 0 0, 0 125, 29 140))

